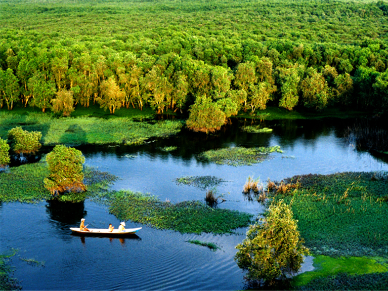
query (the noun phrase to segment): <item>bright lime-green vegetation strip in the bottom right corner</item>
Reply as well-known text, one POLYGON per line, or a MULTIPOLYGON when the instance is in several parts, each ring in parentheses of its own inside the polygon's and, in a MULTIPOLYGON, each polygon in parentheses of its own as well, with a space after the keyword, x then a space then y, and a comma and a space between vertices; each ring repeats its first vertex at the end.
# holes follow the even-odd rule
POLYGON ((363 275, 388 272, 386 260, 365 257, 330 258, 327 256, 317 256, 314 258, 313 266, 315 270, 297 275, 293 279, 294 285, 306 285, 315 278, 328 277, 339 273, 363 275))

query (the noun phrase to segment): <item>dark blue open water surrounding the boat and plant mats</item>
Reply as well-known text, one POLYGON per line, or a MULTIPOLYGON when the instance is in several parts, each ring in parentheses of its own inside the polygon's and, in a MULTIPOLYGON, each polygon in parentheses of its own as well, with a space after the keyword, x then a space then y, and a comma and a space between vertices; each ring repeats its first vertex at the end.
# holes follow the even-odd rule
MULTIPOLYGON (((206 136, 183 131, 179 136, 139 147, 83 147, 86 164, 120 177, 113 188, 149 192, 171 202, 203 200, 205 191, 178 185, 183 176, 215 176, 226 182, 217 192, 226 200, 219 207, 263 212, 263 206, 244 198, 242 187, 250 176, 281 180, 298 174, 330 174, 347 171, 388 171, 384 156, 359 152, 343 139, 351 122, 271 121, 270 134, 240 130, 235 120, 225 131, 206 136), (283 154, 255 165, 232 167, 200 160, 203 150, 232 146, 280 145, 283 154), (171 152, 162 149, 177 146, 171 152)), ((246 121, 248 122, 248 121, 246 121)), ((250 122, 250 121, 249 121, 250 122)), ((248 125, 248 124, 246 124, 248 125)), ((69 227, 84 217, 92 228, 119 221, 107 207, 93 201, 76 205, 0 203, 0 252, 18 250, 12 260, 24 290, 238 290, 244 287, 243 272, 233 260, 235 245, 245 229, 235 235, 180 234, 126 222, 128 228, 143 227, 138 235, 124 239, 80 237, 69 227), (213 242, 221 250, 188 243, 213 242), (32 259, 41 264, 28 263, 32 259)))

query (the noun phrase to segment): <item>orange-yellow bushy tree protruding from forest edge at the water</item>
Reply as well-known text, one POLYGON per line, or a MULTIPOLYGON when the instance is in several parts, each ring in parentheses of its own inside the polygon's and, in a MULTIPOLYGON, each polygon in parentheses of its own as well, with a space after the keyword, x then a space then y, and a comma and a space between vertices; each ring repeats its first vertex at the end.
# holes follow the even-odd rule
POLYGON ((197 132, 215 132, 226 122, 226 115, 220 105, 206 95, 198 96, 190 107, 186 126, 197 132))

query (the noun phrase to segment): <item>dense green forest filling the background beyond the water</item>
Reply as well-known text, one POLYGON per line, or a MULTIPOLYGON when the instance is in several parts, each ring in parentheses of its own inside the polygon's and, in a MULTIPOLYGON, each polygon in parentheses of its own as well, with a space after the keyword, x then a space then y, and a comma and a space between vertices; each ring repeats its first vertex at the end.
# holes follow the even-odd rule
MULTIPOLYGON (((388 108, 388 2, 0 0, 0 106, 388 108)), ((206 119, 206 118, 205 118, 206 119)))

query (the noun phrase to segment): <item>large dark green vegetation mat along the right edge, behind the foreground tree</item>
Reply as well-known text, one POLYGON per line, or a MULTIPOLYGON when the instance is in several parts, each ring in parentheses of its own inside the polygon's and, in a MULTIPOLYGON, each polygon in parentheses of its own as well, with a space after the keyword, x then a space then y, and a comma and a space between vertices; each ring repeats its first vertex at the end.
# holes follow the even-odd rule
MULTIPOLYGON (((388 179, 376 173, 304 175, 285 179, 298 187, 277 193, 290 203, 300 234, 315 255, 388 254, 388 179)), ((273 193, 271 193, 273 195, 273 193)))

